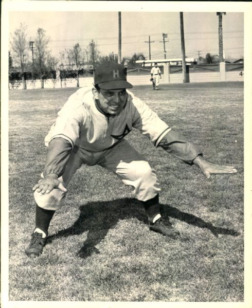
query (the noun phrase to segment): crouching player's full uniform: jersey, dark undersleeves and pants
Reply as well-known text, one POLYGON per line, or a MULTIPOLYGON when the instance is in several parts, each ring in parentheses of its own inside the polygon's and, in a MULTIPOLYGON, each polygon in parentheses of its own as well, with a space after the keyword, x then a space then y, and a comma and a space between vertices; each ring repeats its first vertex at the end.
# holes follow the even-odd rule
MULTIPOLYGON (((58 174, 67 185, 83 164, 100 165, 117 174, 125 185, 133 186, 138 200, 150 200, 158 194, 160 185, 155 170, 124 139, 133 128, 147 136, 155 147, 161 146, 189 163, 200 154, 128 90, 122 112, 108 116, 100 110, 92 88, 86 87, 69 97, 45 137, 49 147, 43 175, 58 174)), ((47 210, 59 209, 65 195, 60 189, 48 194, 34 192, 37 204, 47 210)))

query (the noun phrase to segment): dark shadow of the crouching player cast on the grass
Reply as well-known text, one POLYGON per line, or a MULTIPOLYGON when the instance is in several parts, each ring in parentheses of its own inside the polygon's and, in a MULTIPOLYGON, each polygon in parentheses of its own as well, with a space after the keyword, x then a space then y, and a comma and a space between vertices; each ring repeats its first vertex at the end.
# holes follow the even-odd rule
MULTIPOLYGON (((218 237, 219 234, 239 235, 233 229, 214 227, 211 223, 205 222, 195 215, 180 211, 170 205, 161 204, 160 208, 164 218, 170 216, 199 228, 207 228, 215 237, 218 237)), ((87 258, 92 253, 99 253, 99 250, 95 246, 105 238, 107 232, 115 227, 118 221, 132 218, 148 224, 143 206, 135 199, 122 198, 109 202, 90 202, 80 206, 79 218, 73 226, 49 236, 47 242, 51 243, 60 237, 70 237, 71 235, 88 232, 87 239, 78 252, 81 258, 87 258)), ((183 237, 183 234, 181 237, 183 237)))

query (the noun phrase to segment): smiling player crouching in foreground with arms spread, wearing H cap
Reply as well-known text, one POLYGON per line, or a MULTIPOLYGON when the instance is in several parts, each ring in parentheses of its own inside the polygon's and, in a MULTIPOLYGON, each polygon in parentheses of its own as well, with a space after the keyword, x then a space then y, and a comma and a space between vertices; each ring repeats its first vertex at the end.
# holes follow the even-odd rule
MULTIPOLYGON (((113 171, 123 184, 134 188, 146 210, 150 230, 176 237, 179 232, 169 219, 161 217, 156 172, 124 139, 133 128, 188 164, 195 164, 210 177, 212 173, 235 173, 233 167, 211 164, 199 150, 171 129, 148 105, 128 88, 123 66, 104 62, 95 70, 94 86, 80 88, 69 97, 45 137, 48 146, 45 167, 33 187, 36 202, 35 228, 25 249, 28 257, 38 257, 48 237, 53 214, 64 205, 67 185, 83 165, 113 171)), ((82 185, 86 185, 83 183, 82 185)))

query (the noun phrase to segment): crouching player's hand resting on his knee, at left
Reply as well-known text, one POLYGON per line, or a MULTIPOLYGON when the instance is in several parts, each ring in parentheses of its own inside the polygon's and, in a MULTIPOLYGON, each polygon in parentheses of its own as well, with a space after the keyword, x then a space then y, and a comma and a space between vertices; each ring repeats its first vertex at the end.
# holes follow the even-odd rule
POLYGON ((38 184, 34 185, 32 190, 37 190, 37 192, 44 194, 51 192, 55 188, 67 192, 65 186, 58 180, 57 174, 48 174, 45 178, 41 179, 38 184))

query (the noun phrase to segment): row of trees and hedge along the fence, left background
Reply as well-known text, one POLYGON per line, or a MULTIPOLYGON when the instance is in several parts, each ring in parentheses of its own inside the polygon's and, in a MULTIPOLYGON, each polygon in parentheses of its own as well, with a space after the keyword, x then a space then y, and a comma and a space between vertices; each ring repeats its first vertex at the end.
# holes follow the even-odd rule
MULTIPOLYGON (((27 79, 40 79, 41 88, 44 88, 44 79, 57 77, 75 78, 79 87, 79 74, 93 74, 95 67, 103 61, 118 62, 118 55, 114 52, 101 56, 94 40, 86 48, 81 48, 76 43, 71 48, 60 51, 58 57, 53 57, 46 31, 38 28, 34 41, 29 41, 27 27, 25 23, 21 23, 12 33, 9 50, 9 80, 22 80, 23 89, 26 89, 27 79)), ((134 53, 131 57, 123 58, 121 64, 135 66, 136 60, 144 59, 142 53, 134 53)))

